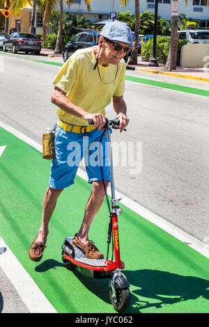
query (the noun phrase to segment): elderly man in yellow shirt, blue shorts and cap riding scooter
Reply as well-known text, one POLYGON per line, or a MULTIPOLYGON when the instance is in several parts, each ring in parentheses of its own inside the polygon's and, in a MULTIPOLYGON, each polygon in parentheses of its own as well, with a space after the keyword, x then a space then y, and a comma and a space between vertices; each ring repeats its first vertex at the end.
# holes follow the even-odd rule
MULTIPOLYGON (((123 22, 107 23, 98 40, 98 45, 77 50, 56 75, 53 83, 52 103, 57 108, 57 125, 55 131, 55 158, 51 165, 51 175, 42 206, 42 222, 38 235, 31 244, 29 257, 33 261, 42 258, 49 220, 54 212, 56 200, 61 191, 74 184, 79 164, 72 165, 68 161, 69 144, 77 142, 81 145, 83 156, 83 138, 88 136, 88 150, 91 144, 100 141, 104 126, 104 108, 113 100, 114 110, 122 132, 128 124, 126 105, 123 100, 125 62, 123 57, 130 51, 132 35, 129 27, 123 22), (93 120, 93 126, 88 120, 93 120)), ((107 138, 102 138, 102 145, 107 138)), ((105 161, 105 152, 103 158, 105 161)), ((103 177, 107 188, 110 176, 109 166, 104 165, 103 177)), ((102 253, 88 239, 88 230, 93 218, 98 213, 104 200, 104 185, 100 166, 86 166, 88 183, 92 184, 91 196, 88 199, 84 219, 75 234, 73 244, 81 248, 88 258, 103 258, 102 253)))

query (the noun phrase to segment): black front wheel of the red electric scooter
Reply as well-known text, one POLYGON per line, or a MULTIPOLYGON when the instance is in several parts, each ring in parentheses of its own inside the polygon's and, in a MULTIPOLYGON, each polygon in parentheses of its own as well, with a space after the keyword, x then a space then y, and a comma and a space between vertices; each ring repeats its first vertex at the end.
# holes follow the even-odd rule
POLYGON ((112 292, 111 282, 109 284, 109 298, 114 309, 118 312, 123 312, 130 305, 130 289, 116 289, 115 294, 112 292))

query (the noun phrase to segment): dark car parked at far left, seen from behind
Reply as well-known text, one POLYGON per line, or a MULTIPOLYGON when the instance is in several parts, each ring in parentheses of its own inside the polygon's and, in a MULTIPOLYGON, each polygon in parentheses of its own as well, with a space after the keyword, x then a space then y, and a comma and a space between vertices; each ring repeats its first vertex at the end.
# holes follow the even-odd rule
POLYGON ((13 54, 16 54, 17 51, 24 51, 26 54, 29 54, 29 52, 40 54, 40 50, 41 41, 32 33, 15 32, 10 34, 8 40, 3 41, 4 52, 13 51, 13 54))

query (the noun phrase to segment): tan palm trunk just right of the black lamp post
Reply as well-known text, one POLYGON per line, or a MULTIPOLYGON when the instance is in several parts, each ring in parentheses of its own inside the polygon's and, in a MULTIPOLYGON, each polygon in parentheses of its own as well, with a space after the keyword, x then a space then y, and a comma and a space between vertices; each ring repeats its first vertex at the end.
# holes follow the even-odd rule
POLYGON ((172 29, 171 29, 171 42, 169 47, 169 56, 167 58, 167 63, 165 69, 176 70, 176 61, 177 61, 177 49, 178 49, 178 40, 177 40, 177 16, 172 16, 172 29))

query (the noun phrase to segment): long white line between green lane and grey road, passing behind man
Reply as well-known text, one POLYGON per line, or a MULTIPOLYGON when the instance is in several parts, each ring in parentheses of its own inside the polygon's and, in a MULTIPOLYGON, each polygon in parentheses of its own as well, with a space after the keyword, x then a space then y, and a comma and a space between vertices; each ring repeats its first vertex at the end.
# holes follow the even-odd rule
MULTIPOLYGON (((24 134, 20 133, 19 131, 16 131, 13 129, 13 127, 10 127, 6 125, 5 123, 0 121, 0 127, 3 127, 3 129, 6 129, 13 135, 20 138, 22 141, 28 143, 32 147, 35 147, 38 151, 42 151, 41 145, 31 140, 31 138, 28 138, 24 134)), ((82 177, 84 180, 88 180, 87 174, 84 170, 79 168, 77 170, 77 175, 79 177, 82 177)), ((108 187, 107 193, 111 195, 111 189, 108 187)), ((150 210, 146 209, 145 207, 142 207, 137 202, 134 202, 132 199, 128 198, 127 196, 124 196, 122 193, 115 191, 116 198, 122 198, 121 203, 131 209, 133 212, 136 212, 146 220, 150 221, 151 223, 154 223, 158 227, 162 228, 162 230, 168 232, 173 237, 176 237, 176 239, 179 239, 183 243, 187 244, 190 248, 193 248, 197 252, 201 253, 201 255, 204 255, 209 259, 209 247, 207 244, 203 243, 199 239, 196 239, 196 237, 193 237, 192 235, 188 234, 187 232, 181 230, 177 226, 173 225, 172 223, 169 223, 169 221, 166 221, 164 218, 158 216, 157 214, 154 214, 153 212, 150 212, 150 210)))

